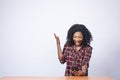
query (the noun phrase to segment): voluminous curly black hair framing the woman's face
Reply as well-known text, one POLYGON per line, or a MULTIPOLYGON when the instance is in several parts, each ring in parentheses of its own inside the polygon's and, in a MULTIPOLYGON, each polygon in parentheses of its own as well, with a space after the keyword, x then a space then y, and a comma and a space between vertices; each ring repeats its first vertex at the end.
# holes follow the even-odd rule
POLYGON ((92 41, 92 35, 91 32, 83 24, 74 24, 70 27, 67 33, 66 43, 68 45, 74 45, 73 34, 75 32, 81 32, 83 34, 83 41, 81 45, 83 45, 84 47, 90 45, 90 42, 92 41))

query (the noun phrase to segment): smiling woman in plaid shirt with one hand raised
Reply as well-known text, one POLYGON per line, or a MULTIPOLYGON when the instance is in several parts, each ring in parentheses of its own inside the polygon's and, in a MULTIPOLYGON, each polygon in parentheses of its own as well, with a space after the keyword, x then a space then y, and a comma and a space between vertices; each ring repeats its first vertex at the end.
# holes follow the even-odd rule
POLYGON ((88 76, 89 61, 92 54, 92 35, 83 24, 74 24, 68 30, 63 50, 59 37, 54 33, 60 63, 66 62, 65 76, 88 76))

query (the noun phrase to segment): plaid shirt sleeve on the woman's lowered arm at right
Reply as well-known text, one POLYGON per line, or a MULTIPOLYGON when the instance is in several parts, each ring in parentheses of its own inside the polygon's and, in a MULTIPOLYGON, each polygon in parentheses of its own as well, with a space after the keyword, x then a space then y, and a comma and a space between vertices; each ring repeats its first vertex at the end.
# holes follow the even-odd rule
POLYGON ((84 57, 83 57, 82 65, 87 65, 89 67, 89 61, 90 61, 90 58, 91 58, 92 49, 93 48, 91 46, 85 47, 85 54, 84 54, 84 57))

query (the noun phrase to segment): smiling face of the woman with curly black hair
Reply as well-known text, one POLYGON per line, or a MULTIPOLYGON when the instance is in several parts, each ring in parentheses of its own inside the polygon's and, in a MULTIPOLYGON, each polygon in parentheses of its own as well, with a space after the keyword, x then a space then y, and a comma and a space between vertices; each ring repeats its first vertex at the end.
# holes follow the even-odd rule
POLYGON ((73 34, 73 41, 76 46, 80 46, 83 40, 83 35, 81 32, 75 32, 73 34))

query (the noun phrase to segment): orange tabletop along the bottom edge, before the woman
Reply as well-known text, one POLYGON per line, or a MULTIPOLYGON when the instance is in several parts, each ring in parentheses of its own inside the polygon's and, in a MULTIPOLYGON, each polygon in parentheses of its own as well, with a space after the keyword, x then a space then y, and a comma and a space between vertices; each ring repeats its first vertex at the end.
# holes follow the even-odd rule
POLYGON ((0 80, 113 80, 109 77, 2 77, 0 80))

